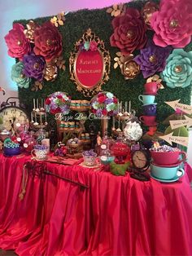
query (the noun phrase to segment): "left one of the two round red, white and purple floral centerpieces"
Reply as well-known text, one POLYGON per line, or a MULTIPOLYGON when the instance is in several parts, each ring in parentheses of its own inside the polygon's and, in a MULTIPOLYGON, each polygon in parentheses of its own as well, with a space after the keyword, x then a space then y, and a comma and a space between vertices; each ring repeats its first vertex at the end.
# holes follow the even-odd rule
POLYGON ((51 114, 63 113, 67 115, 70 111, 71 97, 67 93, 56 91, 49 95, 45 101, 46 112, 51 114))

